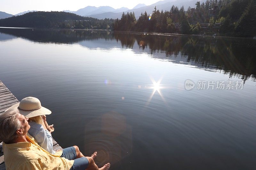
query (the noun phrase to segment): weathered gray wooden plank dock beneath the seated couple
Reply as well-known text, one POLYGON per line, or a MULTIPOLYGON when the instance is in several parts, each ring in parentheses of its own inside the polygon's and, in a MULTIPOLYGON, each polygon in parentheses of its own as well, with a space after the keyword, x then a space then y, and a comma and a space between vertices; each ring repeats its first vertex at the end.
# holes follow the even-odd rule
MULTIPOLYGON (((10 90, 0 81, 0 114, 12 105, 19 103, 19 100, 10 92, 10 90)), ((0 141, 0 145, 2 145, 0 141)), ((62 149, 60 145, 53 139, 53 150, 62 149)), ((0 151, 0 170, 5 170, 4 153, 0 151)))

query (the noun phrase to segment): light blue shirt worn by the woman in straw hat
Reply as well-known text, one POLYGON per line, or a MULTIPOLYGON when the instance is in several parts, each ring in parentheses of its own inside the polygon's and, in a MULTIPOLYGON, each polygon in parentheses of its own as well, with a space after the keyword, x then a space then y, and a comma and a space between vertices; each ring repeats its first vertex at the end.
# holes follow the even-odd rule
POLYGON ((49 153, 54 154, 52 147, 52 135, 48 130, 45 130, 41 124, 37 124, 36 122, 28 122, 30 125, 30 129, 28 130, 29 135, 34 137, 44 150, 48 151, 49 153))

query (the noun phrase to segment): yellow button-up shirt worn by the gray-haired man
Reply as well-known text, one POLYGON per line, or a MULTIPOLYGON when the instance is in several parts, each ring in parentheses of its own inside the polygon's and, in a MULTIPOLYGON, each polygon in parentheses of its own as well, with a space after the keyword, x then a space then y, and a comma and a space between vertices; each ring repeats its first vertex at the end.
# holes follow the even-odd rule
POLYGON ((6 170, 69 170, 72 167, 74 160, 60 158, 62 151, 56 152, 54 155, 45 151, 29 134, 27 135, 27 141, 3 144, 6 170))

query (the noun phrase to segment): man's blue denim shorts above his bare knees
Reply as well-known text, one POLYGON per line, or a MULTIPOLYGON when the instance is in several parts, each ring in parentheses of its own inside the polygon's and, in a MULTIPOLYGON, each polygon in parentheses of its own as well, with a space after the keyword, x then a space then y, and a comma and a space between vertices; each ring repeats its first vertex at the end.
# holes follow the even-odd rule
POLYGON ((85 170, 89 165, 89 161, 85 157, 76 159, 76 149, 73 146, 63 149, 60 157, 68 160, 74 160, 74 164, 70 170, 85 170))

